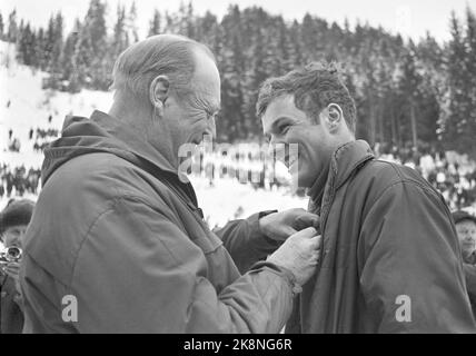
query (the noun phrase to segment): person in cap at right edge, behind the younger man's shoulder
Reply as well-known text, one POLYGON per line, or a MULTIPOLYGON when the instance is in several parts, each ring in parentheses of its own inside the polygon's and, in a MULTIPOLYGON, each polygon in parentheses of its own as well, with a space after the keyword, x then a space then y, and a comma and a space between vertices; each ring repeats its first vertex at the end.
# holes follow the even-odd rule
POLYGON ((459 246, 462 247, 463 267, 466 277, 469 301, 476 318, 476 217, 458 210, 453 212, 459 246))

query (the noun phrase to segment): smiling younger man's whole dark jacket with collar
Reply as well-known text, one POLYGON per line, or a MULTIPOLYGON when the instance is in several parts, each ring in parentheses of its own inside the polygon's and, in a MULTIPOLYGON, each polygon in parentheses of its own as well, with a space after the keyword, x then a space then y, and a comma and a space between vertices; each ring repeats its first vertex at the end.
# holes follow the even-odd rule
POLYGON ((415 170, 353 141, 317 197, 321 261, 288 333, 476 332, 450 212, 415 170))

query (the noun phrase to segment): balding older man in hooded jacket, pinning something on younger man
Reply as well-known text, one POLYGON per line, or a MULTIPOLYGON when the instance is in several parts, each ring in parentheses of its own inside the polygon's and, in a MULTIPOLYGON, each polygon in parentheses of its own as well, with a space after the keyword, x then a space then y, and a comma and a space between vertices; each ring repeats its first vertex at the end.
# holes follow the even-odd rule
POLYGON ((67 118, 44 152, 20 271, 24 332, 279 332, 317 264, 316 216, 260 212, 222 239, 204 221, 178 152, 215 135, 212 53, 148 38, 121 53, 113 88, 109 113, 67 118))

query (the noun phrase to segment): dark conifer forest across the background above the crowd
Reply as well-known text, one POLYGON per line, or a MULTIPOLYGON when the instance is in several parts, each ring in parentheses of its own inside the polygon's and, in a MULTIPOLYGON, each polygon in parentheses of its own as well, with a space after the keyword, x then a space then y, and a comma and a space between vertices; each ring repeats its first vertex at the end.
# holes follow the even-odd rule
MULTIPOLYGON (((17 43, 18 60, 50 73, 56 89, 108 89, 118 55, 139 40, 137 8, 112 9, 116 23, 108 29, 110 9, 91 0, 86 17, 66 34, 61 13, 48 28, 17 23, 14 11, 0 36, 17 43)), ((313 60, 338 61, 343 79, 358 109, 357 136, 420 150, 426 146, 456 149, 476 157, 476 18, 448 14, 452 39, 438 43, 430 34, 418 42, 383 28, 339 24, 307 13, 288 22, 261 8, 230 6, 219 21, 211 12, 197 16, 191 3, 176 12, 151 14, 148 36, 180 33, 207 43, 221 73, 222 110, 219 140, 260 137, 255 116, 259 85, 313 60)))

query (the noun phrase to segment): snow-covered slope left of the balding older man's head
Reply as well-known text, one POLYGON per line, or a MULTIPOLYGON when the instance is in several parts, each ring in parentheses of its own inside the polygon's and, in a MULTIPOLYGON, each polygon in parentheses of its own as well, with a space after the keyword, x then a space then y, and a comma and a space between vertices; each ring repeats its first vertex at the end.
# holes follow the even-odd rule
POLYGON ((40 167, 42 157, 29 141, 30 129, 61 129, 69 113, 89 116, 93 109, 107 110, 112 102, 109 92, 83 90, 79 95, 42 90, 43 72, 14 61, 12 44, 0 41, 0 161, 40 167), (8 67, 7 67, 8 65, 8 67), (51 116, 51 122, 48 121, 51 116), (22 145, 20 152, 8 152, 9 130, 22 145))

